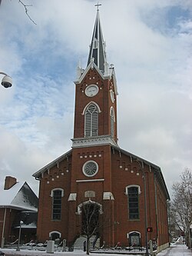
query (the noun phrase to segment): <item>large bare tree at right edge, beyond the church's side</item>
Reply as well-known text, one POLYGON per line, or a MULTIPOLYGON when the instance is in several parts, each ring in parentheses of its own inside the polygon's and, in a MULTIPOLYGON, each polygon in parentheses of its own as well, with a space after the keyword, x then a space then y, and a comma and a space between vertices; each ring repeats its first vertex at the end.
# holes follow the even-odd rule
POLYGON ((190 224, 192 224, 192 174, 185 168, 180 181, 172 186, 174 199, 170 204, 170 216, 174 224, 186 236, 188 248, 191 248, 190 224))

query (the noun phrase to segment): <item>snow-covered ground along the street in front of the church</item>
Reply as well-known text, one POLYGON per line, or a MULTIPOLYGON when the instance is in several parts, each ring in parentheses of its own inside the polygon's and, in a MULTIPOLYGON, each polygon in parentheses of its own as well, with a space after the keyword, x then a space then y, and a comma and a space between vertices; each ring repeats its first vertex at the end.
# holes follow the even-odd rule
MULTIPOLYGON (((55 251, 54 254, 48 254, 46 251, 37 251, 37 250, 21 250, 21 251, 15 251, 15 249, 1 249, 5 253, 5 255, 10 256, 81 256, 86 255, 84 251, 55 251)), ((107 256, 108 254, 104 253, 91 253, 90 255, 93 256, 107 256)), ((120 256, 124 255, 121 253, 115 253, 111 254, 113 256, 120 256)), ((161 251, 157 254, 157 256, 191 256, 192 252, 191 250, 187 249, 187 246, 185 244, 173 244, 170 246, 170 248, 167 248, 164 251, 161 251)), ((129 256, 135 256, 135 254, 129 254, 129 256)))

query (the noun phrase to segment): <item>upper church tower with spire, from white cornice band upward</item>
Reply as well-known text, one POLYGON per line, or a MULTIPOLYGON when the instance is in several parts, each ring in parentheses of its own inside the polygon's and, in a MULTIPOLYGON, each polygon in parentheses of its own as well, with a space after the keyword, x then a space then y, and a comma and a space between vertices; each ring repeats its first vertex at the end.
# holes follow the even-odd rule
POLYGON ((117 145, 117 82, 108 65, 99 10, 87 68, 78 66, 75 84, 74 138, 72 147, 117 145))

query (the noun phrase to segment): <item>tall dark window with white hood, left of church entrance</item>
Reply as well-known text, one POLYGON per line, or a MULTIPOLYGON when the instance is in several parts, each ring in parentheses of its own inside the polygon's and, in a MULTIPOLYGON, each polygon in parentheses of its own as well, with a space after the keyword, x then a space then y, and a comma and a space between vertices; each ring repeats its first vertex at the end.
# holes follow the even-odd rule
POLYGON ((61 220, 61 198, 64 191, 61 188, 55 188, 51 191, 52 197, 52 220, 61 220))

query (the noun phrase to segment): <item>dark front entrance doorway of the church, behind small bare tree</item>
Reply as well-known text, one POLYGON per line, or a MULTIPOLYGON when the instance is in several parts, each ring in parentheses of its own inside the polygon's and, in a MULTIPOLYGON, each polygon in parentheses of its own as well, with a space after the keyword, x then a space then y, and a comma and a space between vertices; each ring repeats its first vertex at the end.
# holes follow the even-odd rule
POLYGON ((99 205, 93 202, 82 204, 82 234, 90 235, 98 232, 99 205))

